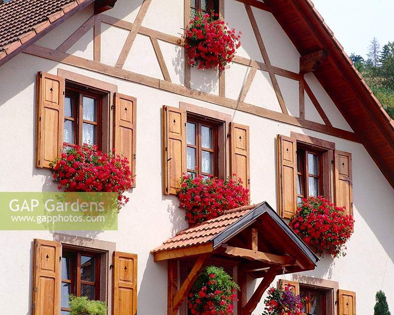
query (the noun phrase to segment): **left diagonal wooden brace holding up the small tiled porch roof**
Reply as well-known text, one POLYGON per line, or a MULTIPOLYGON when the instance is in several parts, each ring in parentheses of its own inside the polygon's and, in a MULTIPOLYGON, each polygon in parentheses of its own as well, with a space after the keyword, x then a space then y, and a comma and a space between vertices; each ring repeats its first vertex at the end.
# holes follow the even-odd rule
POLYGON ((174 294, 174 287, 176 287, 174 284, 169 285, 168 287, 171 287, 171 292, 168 292, 168 302, 171 302, 172 307, 168 307, 167 315, 173 315, 177 314, 179 307, 181 306, 182 302, 185 300, 187 294, 189 291, 192 289, 192 286, 198 276, 198 273, 204 266, 204 262, 206 259, 210 256, 209 253, 207 254, 202 254, 198 257, 197 261, 195 262, 192 270, 190 271, 189 275, 187 276, 186 280, 184 283, 181 285, 180 289, 174 294), (170 298, 170 296, 172 298, 170 298), (170 301, 171 300, 171 301, 170 301))

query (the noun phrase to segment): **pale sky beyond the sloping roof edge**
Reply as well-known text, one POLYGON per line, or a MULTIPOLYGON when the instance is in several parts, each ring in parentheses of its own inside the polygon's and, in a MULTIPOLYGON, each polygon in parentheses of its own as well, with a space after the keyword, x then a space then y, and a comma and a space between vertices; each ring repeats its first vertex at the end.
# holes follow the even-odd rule
POLYGON ((394 40, 394 0, 312 0, 348 55, 367 54, 375 36, 380 45, 394 40))

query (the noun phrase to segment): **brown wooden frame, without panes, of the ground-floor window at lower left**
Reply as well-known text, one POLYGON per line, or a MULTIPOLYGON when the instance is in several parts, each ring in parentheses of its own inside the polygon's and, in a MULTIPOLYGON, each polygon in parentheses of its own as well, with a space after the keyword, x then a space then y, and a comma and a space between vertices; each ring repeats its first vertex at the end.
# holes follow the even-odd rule
MULTIPOLYGON (((86 251, 84 248, 78 248, 78 247, 71 247, 67 245, 62 246, 62 257, 64 252, 73 252, 76 254, 76 266, 73 266, 71 263, 71 279, 61 279, 61 284, 63 283, 69 283, 71 286, 71 294, 75 296, 81 296, 81 284, 88 284, 88 285, 94 285, 95 287, 95 300, 100 299, 100 283, 101 283, 101 253, 100 252, 89 252, 86 251), (94 257, 95 259, 95 281, 90 282, 90 281, 84 281, 81 280, 81 256, 89 256, 89 257, 94 257), (75 268, 75 277, 76 279, 73 279, 73 268, 75 268), (75 292, 73 292, 73 284, 75 284, 75 292)), ((66 311, 70 312, 71 309, 69 308, 63 308, 61 307, 61 311, 66 311)))

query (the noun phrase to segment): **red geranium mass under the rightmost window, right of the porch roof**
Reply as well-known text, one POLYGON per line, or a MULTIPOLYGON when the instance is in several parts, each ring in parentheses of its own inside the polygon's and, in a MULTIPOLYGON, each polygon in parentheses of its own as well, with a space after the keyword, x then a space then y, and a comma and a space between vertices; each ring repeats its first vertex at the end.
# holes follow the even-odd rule
POLYGON ((338 257, 346 255, 344 244, 353 233, 354 220, 345 207, 319 196, 302 199, 289 225, 317 254, 327 252, 338 257))

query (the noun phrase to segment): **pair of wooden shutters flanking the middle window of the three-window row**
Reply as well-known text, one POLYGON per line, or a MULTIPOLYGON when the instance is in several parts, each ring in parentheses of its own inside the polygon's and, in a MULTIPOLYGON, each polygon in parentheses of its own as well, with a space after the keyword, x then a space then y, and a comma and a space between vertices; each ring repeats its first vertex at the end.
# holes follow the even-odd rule
MULTIPOLYGON (((182 108, 163 106, 164 194, 176 194, 182 173, 186 173, 186 115, 182 108)), ((230 173, 249 189, 248 126, 230 123, 230 173)))

